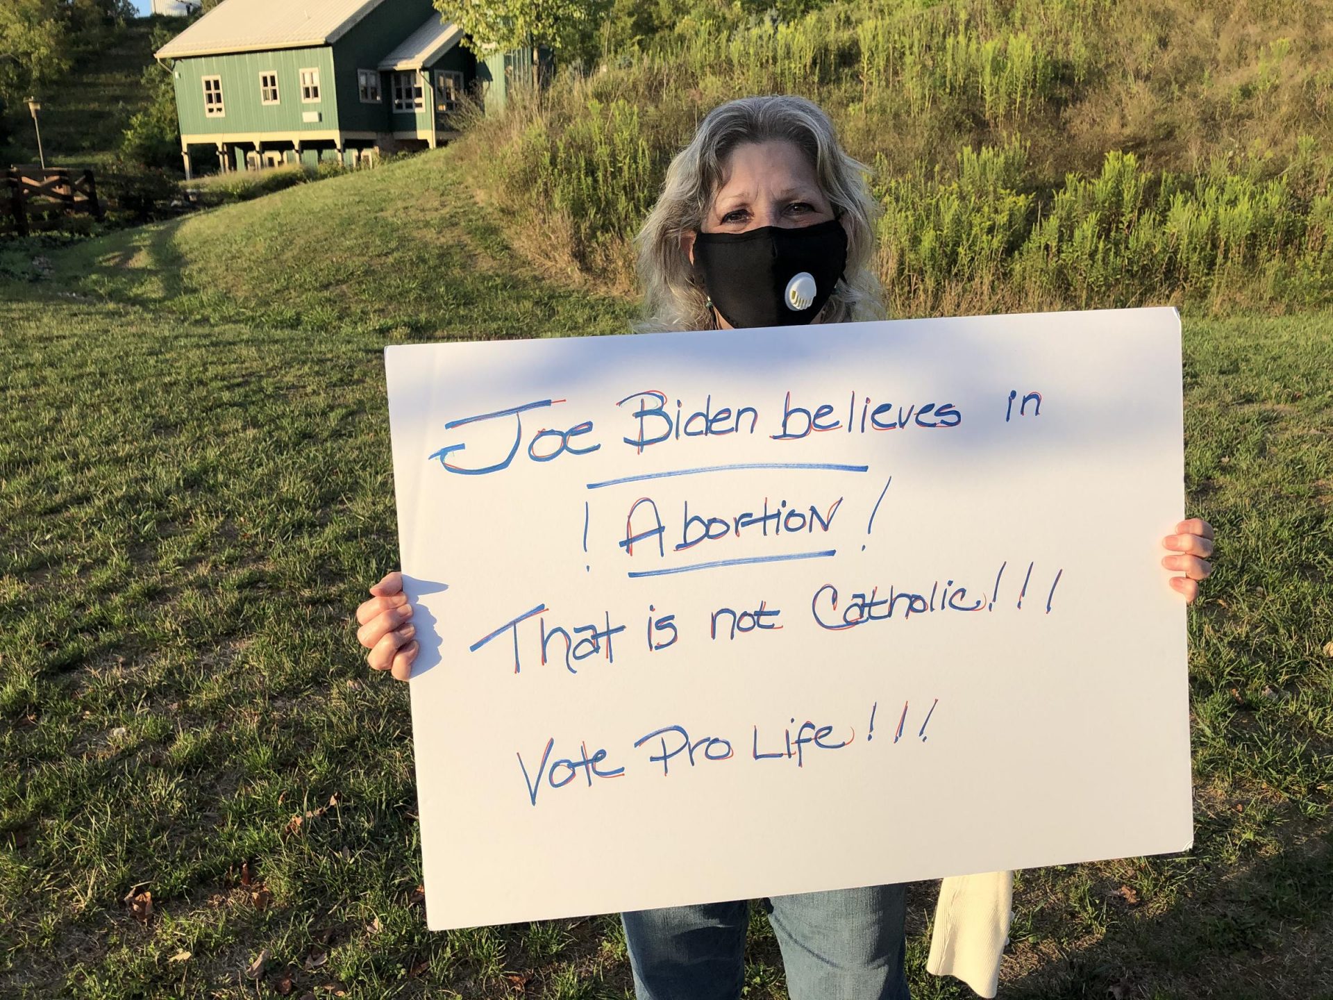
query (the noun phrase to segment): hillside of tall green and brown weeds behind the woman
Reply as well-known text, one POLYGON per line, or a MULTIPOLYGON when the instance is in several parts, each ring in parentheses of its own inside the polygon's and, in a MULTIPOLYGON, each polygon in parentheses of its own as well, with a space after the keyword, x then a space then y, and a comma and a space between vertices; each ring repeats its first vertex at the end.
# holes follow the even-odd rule
POLYGON ((1329 0, 786 7, 617 5, 597 64, 465 152, 543 252, 628 289, 698 119, 800 93, 872 171, 896 315, 1333 300, 1329 0))

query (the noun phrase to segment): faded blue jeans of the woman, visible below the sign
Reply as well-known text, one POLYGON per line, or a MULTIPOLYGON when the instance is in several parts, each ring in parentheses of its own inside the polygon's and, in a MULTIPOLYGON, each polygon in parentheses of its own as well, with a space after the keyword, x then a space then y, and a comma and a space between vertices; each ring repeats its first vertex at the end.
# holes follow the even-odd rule
MULTIPOLYGON (((792 1000, 910 1000, 904 972, 905 885, 773 896, 760 905, 782 949, 792 1000)), ((621 913, 639 1000, 736 1000, 749 904, 621 913)))

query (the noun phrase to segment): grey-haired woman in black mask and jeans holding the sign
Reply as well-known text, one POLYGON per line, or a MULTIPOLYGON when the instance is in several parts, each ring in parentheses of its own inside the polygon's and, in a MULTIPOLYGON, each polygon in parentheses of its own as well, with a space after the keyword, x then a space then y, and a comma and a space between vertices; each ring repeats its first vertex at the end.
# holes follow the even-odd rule
MULTIPOLYGON (((870 271, 874 201, 864 173, 810 101, 745 97, 714 108, 672 161, 639 235, 651 316, 644 328, 730 329, 882 315, 870 271)), ((1182 573, 1172 587, 1193 600, 1197 581, 1210 572, 1205 560, 1213 531, 1198 519, 1176 531, 1162 540, 1173 551, 1162 565, 1182 573)), ((401 576, 389 573, 371 593, 357 608, 357 639, 371 651, 371 667, 407 680, 419 647, 401 576)), ((1002 881, 988 885, 1002 885, 994 895, 1008 911, 1009 873, 996 875, 1002 881)), ((904 885, 778 896, 762 907, 793 1000, 909 996, 904 885)), ((746 901, 640 911, 624 913, 623 921, 640 1000, 740 996, 746 901)), ((993 995, 1006 927, 1005 919, 1000 940, 980 949, 990 968, 977 975, 976 959, 962 969, 966 960, 960 964, 952 943, 941 949, 948 955, 936 953, 937 920, 928 968, 960 975, 993 995)))

